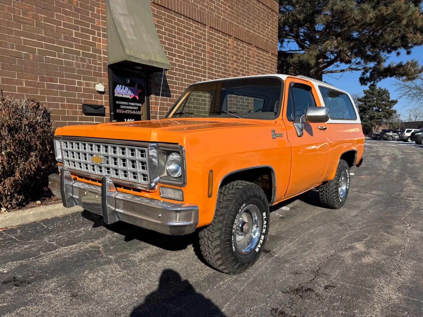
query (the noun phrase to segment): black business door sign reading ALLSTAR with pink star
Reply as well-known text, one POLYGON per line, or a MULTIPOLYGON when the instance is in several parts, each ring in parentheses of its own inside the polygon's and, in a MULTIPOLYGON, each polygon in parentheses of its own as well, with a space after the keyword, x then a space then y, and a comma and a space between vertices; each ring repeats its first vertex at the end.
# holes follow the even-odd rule
POLYGON ((146 79, 124 69, 110 71, 111 109, 113 121, 146 120, 146 79))

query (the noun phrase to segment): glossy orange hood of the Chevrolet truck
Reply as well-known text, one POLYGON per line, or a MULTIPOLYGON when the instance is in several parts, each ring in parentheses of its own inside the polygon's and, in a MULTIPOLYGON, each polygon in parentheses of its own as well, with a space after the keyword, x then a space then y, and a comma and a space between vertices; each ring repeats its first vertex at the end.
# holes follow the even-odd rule
MULTIPOLYGON (((272 120, 269 120, 268 124, 272 122, 272 120)), ((62 128, 57 128, 55 135, 178 143, 181 134, 188 131, 262 124, 266 124, 266 122, 263 122, 263 120, 246 120, 238 118, 213 118, 211 120, 162 119, 64 126, 62 128)))

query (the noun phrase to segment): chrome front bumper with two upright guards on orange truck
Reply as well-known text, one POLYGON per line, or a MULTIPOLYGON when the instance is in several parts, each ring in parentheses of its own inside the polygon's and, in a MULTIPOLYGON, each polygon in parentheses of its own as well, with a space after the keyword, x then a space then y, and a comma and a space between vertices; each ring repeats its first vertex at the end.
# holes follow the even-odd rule
POLYGON ((66 208, 78 205, 103 216, 104 222, 118 220, 167 235, 184 235, 198 225, 198 207, 191 204, 126 194, 117 191, 110 176, 102 178, 102 185, 74 180, 67 167, 49 175, 49 189, 62 198, 66 208))

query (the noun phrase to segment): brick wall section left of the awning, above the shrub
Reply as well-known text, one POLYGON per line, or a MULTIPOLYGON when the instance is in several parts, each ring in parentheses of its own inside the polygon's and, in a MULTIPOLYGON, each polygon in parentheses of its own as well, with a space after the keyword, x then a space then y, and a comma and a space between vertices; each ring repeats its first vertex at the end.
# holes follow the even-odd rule
POLYGON ((104 0, 0 0, 0 88, 36 98, 53 110, 55 126, 108 119, 104 0), (82 114, 104 104, 106 118, 82 114))

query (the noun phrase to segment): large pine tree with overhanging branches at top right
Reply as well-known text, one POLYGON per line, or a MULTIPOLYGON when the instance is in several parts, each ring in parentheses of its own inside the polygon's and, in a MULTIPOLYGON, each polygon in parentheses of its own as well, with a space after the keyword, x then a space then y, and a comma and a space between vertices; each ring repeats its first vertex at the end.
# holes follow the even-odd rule
POLYGON ((423 44, 418 0, 280 0, 279 61, 309 76, 361 71, 362 85, 387 77, 415 79, 416 60, 387 63, 423 44))

